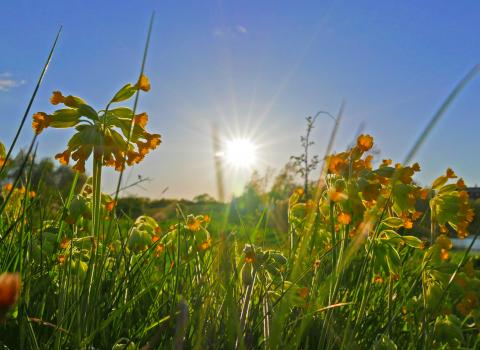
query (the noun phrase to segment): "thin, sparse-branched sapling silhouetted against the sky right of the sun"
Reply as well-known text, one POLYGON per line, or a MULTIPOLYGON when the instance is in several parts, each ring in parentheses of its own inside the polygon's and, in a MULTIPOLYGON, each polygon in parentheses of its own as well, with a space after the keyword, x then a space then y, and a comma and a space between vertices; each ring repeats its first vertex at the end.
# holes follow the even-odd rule
POLYGON ((305 135, 300 137, 303 153, 299 156, 290 157, 297 174, 299 174, 303 179, 303 190, 305 191, 305 196, 308 196, 309 174, 316 169, 319 163, 318 155, 311 157, 309 154, 310 147, 315 144, 314 141, 311 141, 310 136, 313 128, 315 127, 315 120, 317 119, 317 116, 318 113, 315 117, 308 116, 305 118, 307 121, 307 129, 305 131, 305 135))

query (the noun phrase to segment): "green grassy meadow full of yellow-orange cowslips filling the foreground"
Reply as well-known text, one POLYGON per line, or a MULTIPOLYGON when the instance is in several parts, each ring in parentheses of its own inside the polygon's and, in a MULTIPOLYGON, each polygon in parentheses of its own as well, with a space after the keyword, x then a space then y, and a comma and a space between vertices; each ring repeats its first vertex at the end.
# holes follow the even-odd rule
MULTIPOLYGON (((56 110, 33 113, 35 137, 16 168, 16 138, 0 147, 0 344, 480 347, 480 272, 470 249, 453 252, 449 238, 478 234, 469 232, 474 211, 465 184, 445 166, 431 186, 420 187, 420 166, 411 161, 473 73, 404 162, 374 165, 374 140, 360 135, 350 149, 327 155, 314 186, 306 181, 283 201, 264 201, 258 217, 244 212, 235 220, 228 203, 180 203, 170 207, 168 222, 121 210, 123 170, 160 145, 160 135, 147 131, 147 114, 137 111, 140 93, 150 90, 143 65, 100 110, 54 92, 56 110), (49 128, 74 130, 55 155, 75 171, 57 197, 44 192, 48 176, 34 167, 36 141, 49 128), (105 167, 120 174, 114 195, 102 192, 105 167), (419 201, 428 203, 425 210, 419 201), (266 224, 275 215, 285 225, 266 224)), ((17 136, 31 115, 27 109, 17 136)))

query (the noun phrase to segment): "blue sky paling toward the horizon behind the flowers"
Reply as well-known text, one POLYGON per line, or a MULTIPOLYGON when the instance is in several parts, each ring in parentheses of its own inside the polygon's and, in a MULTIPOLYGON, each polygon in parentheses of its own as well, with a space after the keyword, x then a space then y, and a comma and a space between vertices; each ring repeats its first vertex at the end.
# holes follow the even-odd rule
MULTIPOLYGON (((139 70, 152 10, 156 22, 140 107, 163 144, 127 171, 152 179, 131 193, 192 198, 215 193, 210 128, 259 144, 257 167, 298 154, 304 118, 347 102, 335 150, 358 127, 379 157, 402 160, 467 71, 480 63, 477 1, 3 1, 0 3, 0 140, 8 144, 59 25, 63 33, 32 112, 52 111, 53 90, 102 108, 139 70)), ((461 94, 416 156, 428 184, 453 167, 480 184, 480 79, 461 94)), ((332 128, 319 119, 314 150, 332 128)), ((28 145, 26 128, 19 147, 28 145)), ((47 129, 41 156, 71 134, 47 129)), ((248 172, 228 172, 239 191, 248 172)), ((107 172, 106 190, 116 180, 107 172)))

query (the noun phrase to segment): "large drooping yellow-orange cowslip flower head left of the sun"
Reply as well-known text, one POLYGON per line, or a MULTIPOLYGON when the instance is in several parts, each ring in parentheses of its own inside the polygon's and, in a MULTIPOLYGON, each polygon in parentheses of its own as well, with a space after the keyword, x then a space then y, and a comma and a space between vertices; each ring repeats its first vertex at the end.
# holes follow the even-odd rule
POLYGON ((117 171, 125 165, 141 162, 160 143, 159 134, 147 132, 148 115, 143 112, 134 115, 127 107, 111 109, 114 103, 126 101, 137 91, 149 91, 150 82, 142 75, 135 85, 126 84, 109 101, 107 108, 96 111, 77 96, 63 96, 54 91, 50 102, 63 104, 67 108, 58 109, 52 114, 37 112, 33 115, 32 127, 40 134, 45 128, 71 128, 76 133, 68 141, 67 149, 55 155, 60 164, 75 162, 73 170, 85 172, 85 163, 93 154, 102 165, 111 166, 117 171))

